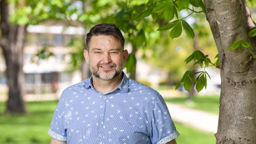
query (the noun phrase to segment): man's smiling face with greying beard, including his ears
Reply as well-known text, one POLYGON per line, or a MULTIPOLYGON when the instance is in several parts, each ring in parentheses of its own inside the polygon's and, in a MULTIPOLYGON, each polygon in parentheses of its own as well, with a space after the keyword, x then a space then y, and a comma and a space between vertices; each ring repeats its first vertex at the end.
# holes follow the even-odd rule
POLYGON ((119 76, 128 57, 114 36, 92 36, 89 53, 84 50, 86 63, 92 75, 102 80, 111 80, 119 76))

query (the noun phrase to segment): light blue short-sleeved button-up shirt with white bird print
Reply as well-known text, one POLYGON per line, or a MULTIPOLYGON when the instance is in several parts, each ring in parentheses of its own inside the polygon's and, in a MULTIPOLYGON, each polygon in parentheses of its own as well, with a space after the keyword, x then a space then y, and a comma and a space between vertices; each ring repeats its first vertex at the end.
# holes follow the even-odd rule
POLYGON ((163 97, 122 73, 106 94, 92 77, 66 88, 48 134, 68 144, 164 144, 179 136, 163 97))

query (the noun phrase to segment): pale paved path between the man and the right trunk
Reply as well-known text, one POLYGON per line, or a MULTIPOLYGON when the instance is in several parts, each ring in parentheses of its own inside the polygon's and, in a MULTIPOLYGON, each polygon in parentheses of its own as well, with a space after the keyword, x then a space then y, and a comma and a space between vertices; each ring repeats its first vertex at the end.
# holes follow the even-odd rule
POLYGON ((166 102, 166 105, 174 121, 194 127, 204 132, 217 132, 218 115, 201 110, 186 108, 169 102, 166 102))

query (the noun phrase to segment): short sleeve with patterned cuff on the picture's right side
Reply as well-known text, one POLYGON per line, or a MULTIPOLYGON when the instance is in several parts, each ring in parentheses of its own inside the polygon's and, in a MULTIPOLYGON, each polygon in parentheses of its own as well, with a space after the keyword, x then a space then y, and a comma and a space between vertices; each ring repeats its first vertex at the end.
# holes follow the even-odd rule
POLYGON ((152 144, 165 144, 180 135, 175 128, 163 97, 159 93, 152 107, 151 128, 152 144))

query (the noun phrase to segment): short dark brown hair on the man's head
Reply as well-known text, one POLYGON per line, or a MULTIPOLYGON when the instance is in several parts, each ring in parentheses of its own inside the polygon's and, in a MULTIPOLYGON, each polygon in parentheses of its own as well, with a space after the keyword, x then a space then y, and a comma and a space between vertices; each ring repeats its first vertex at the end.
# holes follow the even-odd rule
POLYGON ((119 40, 124 50, 124 36, 122 35, 120 29, 118 29, 115 24, 102 23, 92 27, 89 33, 86 34, 86 47, 88 52, 89 52, 90 41, 92 39, 92 36, 99 36, 99 35, 106 35, 106 36, 109 35, 109 36, 116 37, 119 40))

